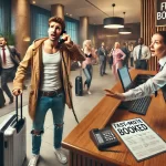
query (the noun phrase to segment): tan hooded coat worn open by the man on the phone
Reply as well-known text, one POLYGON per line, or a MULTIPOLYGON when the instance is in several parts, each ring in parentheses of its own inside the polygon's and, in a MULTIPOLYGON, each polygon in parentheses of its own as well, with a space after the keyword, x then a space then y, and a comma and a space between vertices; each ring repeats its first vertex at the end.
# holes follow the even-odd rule
MULTIPOLYGON (((29 46, 23 60, 21 61, 18 68, 18 71, 15 73, 15 79, 13 80, 13 90, 15 89, 22 90, 25 72, 28 68, 31 65, 29 114, 32 120, 34 120, 34 116, 35 116, 38 92, 39 92, 39 86, 40 86, 40 79, 42 75, 42 43, 46 39, 48 38, 35 40, 33 44, 29 46)), ((69 108, 71 108, 72 104, 70 102, 69 90, 68 90, 68 85, 69 85, 70 93, 71 93, 71 89, 72 89, 72 84, 70 82, 71 60, 84 61, 85 58, 84 58, 84 53, 72 42, 71 44, 63 43, 62 48, 60 49, 60 52, 61 52, 61 55, 63 55, 62 65, 61 65, 62 66, 61 76, 62 76, 63 87, 65 92, 65 103, 69 106, 69 108)))

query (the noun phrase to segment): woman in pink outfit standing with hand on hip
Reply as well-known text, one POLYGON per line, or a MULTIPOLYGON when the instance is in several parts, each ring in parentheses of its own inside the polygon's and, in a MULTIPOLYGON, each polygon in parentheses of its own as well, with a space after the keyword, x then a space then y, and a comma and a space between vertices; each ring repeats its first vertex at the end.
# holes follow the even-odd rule
POLYGON ((115 42, 114 50, 113 50, 113 65, 112 65, 112 73, 115 80, 118 80, 117 69, 123 66, 123 60, 125 59, 126 54, 120 49, 120 43, 115 42))

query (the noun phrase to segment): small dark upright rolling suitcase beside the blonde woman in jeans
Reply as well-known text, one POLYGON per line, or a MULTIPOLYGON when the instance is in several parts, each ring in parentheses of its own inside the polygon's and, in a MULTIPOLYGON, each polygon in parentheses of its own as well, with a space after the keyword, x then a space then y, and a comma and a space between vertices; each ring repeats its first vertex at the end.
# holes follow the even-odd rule
POLYGON ((83 95, 82 69, 80 69, 80 75, 75 77, 75 95, 83 95))

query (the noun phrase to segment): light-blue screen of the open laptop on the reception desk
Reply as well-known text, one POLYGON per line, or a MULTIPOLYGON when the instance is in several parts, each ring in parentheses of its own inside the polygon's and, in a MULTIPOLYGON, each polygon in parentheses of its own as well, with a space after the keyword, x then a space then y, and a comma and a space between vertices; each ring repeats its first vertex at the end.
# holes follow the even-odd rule
POLYGON ((124 92, 126 92, 129 86, 132 85, 132 80, 131 80, 131 75, 128 73, 128 69, 127 66, 123 66, 121 69, 117 70, 118 72, 118 76, 123 86, 124 92))

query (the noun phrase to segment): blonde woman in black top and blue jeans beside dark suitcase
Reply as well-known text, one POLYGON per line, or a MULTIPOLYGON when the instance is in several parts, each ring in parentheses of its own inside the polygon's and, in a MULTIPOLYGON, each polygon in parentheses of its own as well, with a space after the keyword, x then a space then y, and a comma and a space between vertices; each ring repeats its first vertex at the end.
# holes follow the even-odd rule
POLYGON ((92 41, 85 40, 83 42, 83 51, 86 56, 85 61, 82 63, 83 72, 86 76, 86 81, 84 82, 84 89, 86 87, 87 94, 91 94, 90 86, 92 82, 93 75, 93 66, 92 66, 92 58, 96 59, 95 50, 92 48, 92 41))

